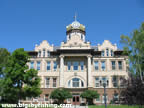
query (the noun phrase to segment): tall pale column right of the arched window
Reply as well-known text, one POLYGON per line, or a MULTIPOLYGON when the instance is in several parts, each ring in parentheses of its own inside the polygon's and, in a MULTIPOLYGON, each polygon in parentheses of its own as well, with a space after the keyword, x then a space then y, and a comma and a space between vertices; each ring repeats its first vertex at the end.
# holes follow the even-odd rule
POLYGON ((92 87, 92 75, 91 75, 91 55, 88 55, 88 87, 92 87))

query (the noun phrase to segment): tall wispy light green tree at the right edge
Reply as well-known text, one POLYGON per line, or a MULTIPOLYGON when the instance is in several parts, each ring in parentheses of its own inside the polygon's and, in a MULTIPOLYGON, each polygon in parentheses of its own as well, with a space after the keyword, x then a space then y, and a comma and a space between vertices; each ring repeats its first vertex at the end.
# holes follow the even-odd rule
POLYGON ((138 75, 143 81, 144 72, 144 23, 140 29, 134 30, 130 36, 121 36, 121 43, 124 44, 124 53, 127 53, 130 60, 130 71, 138 75))

